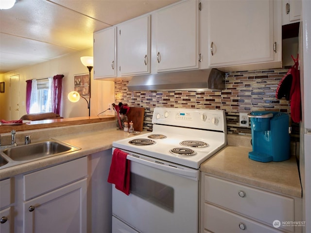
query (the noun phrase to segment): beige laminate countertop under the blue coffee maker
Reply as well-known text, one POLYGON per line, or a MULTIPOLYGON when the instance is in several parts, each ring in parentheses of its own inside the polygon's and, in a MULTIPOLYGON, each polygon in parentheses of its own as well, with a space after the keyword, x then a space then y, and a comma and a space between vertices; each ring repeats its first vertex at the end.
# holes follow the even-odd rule
POLYGON ((200 170, 226 179, 301 198, 294 156, 283 162, 261 163, 248 158, 251 148, 226 146, 201 165, 200 170))

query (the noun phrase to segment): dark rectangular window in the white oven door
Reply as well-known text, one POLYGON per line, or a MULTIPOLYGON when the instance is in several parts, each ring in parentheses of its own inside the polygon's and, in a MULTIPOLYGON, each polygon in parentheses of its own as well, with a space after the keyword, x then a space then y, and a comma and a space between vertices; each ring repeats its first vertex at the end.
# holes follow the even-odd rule
POLYGON ((130 193, 169 212, 174 212, 174 189, 166 184, 131 173, 130 193))

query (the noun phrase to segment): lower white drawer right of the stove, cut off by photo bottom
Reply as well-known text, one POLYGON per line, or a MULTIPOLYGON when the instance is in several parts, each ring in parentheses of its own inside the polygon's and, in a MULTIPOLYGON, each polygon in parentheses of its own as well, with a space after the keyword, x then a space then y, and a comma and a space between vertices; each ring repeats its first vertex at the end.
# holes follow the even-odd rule
POLYGON ((207 203, 204 205, 204 212, 204 228, 213 233, 279 233, 274 228, 207 203))

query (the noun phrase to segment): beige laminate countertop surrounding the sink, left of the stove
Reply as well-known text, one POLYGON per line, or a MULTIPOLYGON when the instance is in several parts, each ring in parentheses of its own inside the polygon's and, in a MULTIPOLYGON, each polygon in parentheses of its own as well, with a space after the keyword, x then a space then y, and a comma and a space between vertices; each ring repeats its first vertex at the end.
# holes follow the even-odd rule
MULTIPOLYGON (((141 132, 141 134, 143 133, 148 132, 141 132)), ((69 143, 76 147, 80 147, 81 150, 0 169, 0 179, 12 177, 24 172, 33 171, 35 169, 43 168, 46 166, 56 165, 72 159, 80 158, 85 155, 111 149, 113 141, 126 138, 126 136, 127 134, 124 134, 123 131, 117 130, 116 128, 104 129, 88 133, 75 133, 66 136, 53 136, 53 139, 69 143)))

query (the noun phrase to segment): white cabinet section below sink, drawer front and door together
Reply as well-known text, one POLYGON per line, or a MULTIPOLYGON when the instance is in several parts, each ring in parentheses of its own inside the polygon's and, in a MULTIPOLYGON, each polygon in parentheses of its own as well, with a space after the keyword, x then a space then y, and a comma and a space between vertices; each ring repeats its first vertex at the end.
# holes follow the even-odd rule
POLYGON ((87 162, 82 157, 15 176, 14 232, 86 233, 87 162))

